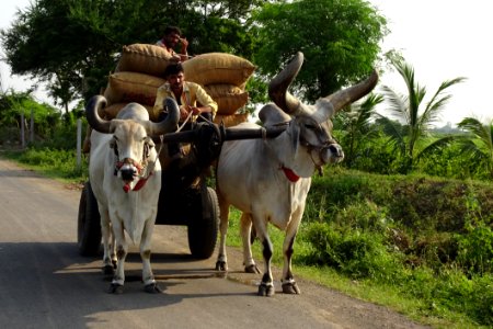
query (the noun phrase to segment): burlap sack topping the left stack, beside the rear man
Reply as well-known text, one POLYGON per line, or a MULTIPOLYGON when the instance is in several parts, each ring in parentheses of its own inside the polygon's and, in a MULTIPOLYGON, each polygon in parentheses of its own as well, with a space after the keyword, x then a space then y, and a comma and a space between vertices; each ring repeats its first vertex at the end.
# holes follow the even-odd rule
POLYGON ((123 46, 115 71, 130 71, 162 77, 167 66, 173 63, 171 55, 162 47, 149 44, 123 46))

